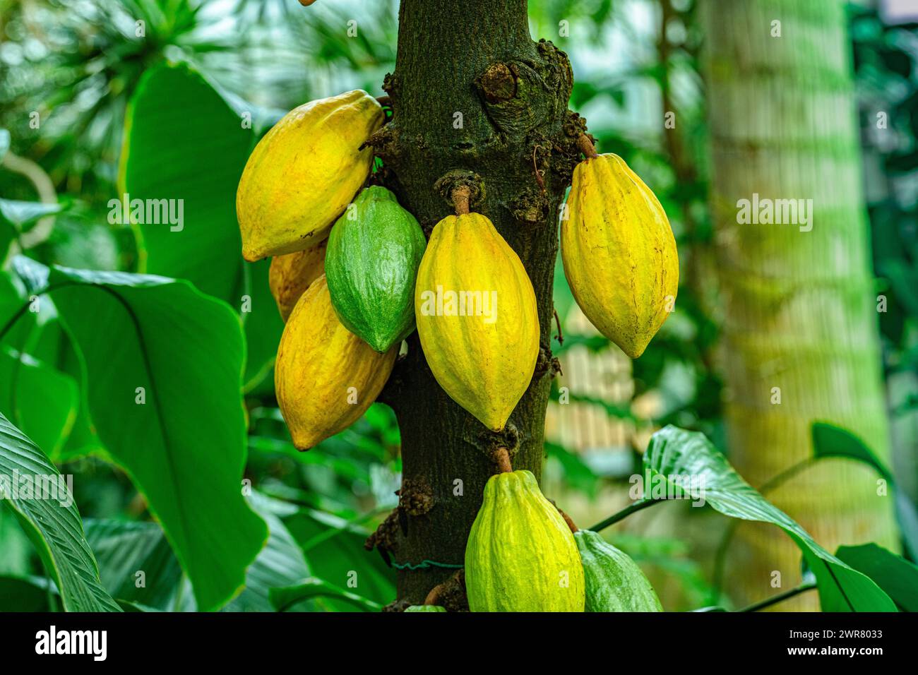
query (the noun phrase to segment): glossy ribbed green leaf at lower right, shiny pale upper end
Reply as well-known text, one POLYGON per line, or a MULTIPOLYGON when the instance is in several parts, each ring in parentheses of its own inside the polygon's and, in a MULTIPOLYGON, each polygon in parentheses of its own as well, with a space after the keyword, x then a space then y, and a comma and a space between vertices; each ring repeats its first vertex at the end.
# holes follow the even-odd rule
POLYGON ((778 525, 800 546, 816 576, 823 612, 896 611, 876 583, 819 546, 787 513, 745 482, 703 433, 666 426, 651 438, 644 468, 692 500, 703 498, 724 515, 778 525))

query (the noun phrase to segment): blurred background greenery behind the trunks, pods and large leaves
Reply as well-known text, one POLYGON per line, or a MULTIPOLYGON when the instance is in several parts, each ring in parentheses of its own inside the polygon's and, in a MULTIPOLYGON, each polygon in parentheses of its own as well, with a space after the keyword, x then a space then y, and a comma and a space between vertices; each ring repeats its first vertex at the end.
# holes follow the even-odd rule
MULTIPOLYGON (((571 58, 571 107, 588 119, 600 151, 620 154, 666 208, 682 267, 677 311, 633 363, 584 325, 564 275, 556 275, 565 340, 555 354, 565 377, 554 384, 545 491, 587 526, 628 503, 627 478, 660 426, 702 431, 728 450, 706 205, 702 36, 695 0, 530 0, 529 8, 533 37, 553 40, 571 58), (674 128, 665 127, 668 113, 674 128), (598 381, 602 377, 609 381, 598 381), (592 427, 587 435, 577 431, 585 421, 592 427)), ((901 486, 914 498, 918 28, 890 25, 863 6, 851 14, 874 264, 878 293, 889 301, 880 318, 895 463, 901 486), (886 113, 888 129, 878 129, 878 111, 886 113)), ((189 63, 228 100, 283 112, 358 87, 380 95, 384 75, 394 68, 396 39, 396 0, 320 0, 308 9, 294 0, 0 0, 0 129, 8 130, 6 143, 0 138, 0 153, 8 147, 0 165, 0 226, 6 232, 0 233, 0 258, 19 251, 44 264, 139 269, 143 243, 129 225, 109 223, 107 202, 118 196, 126 109, 152 66, 189 63), (353 18, 359 29, 348 37, 353 18), (17 202, 61 210, 29 210, 17 202)), ((40 352, 40 345, 31 352, 40 352)), ((272 380, 266 371, 247 398, 246 477, 256 490, 256 510, 269 524, 282 525, 272 527, 274 558, 259 558, 263 564, 250 569, 249 588, 228 609, 271 609, 268 588, 295 586, 306 577, 318 581, 285 595, 285 608, 353 608, 364 601, 342 600, 321 586, 344 587, 342 569, 372 579, 363 592, 371 604, 364 608, 390 602, 392 569, 376 553, 365 553, 363 542, 397 504, 394 416, 375 405, 352 429, 297 453, 272 380), (278 538, 277 532, 285 534, 278 538)), ((74 425, 69 433, 79 429, 74 425)), ((103 581, 109 574, 118 578, 118 565, 128 564, 118 556, 142 558, 171 579, 161 584, 170 589, 166 593, 109 590, 138 606, 193 609, 187 581, 143 497, 106 461, 91 433, 77 440, 67 443, 84 452, 73 453, 62 473, 78 477, 77 505, 103 581)), ((722 523, 683 506, 637 514, 610 538, 648 571, 667 610, 727 602, 711 591, 712 551, 722 523)), ((0 602, 12 597, 5 594, 8 586, 21 591, 17 602, 28 595, 36 606, 54 607, 39 558, 3 510, 0 550, 0 602)))

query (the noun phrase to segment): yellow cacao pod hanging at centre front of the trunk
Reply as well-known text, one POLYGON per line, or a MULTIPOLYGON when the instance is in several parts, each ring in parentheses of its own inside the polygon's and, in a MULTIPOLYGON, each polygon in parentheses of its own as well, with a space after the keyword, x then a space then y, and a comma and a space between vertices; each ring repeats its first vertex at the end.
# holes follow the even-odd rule
POLYGON ((490 220, 467 213, 436 224, 414 308, 433 377, 488 429, 503 429, 532 380, 539 315, 520 257, 490 220))

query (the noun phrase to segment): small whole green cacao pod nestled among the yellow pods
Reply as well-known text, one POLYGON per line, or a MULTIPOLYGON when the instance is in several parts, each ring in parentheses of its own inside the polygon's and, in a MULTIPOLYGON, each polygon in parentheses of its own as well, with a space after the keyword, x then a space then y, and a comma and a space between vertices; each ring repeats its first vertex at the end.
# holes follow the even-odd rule
POLYGON ((414 282, 427 240, 385 187, 367 187, 335 222, 325 256, 341 323, 377 352, 414 331, 414 282))

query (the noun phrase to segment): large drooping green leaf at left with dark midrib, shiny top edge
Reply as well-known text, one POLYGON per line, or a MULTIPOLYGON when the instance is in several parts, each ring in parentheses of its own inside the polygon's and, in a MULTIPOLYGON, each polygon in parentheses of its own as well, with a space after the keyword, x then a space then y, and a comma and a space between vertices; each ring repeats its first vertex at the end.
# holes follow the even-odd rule
POLYGON ((162 524, 198 607, 220 607, 241 589, 267 537, 241 495, 238 317, 185 281, 62 267, 49 273, 26 258, 16 262, 29 285, 48 284, 108 455, 162 524))

